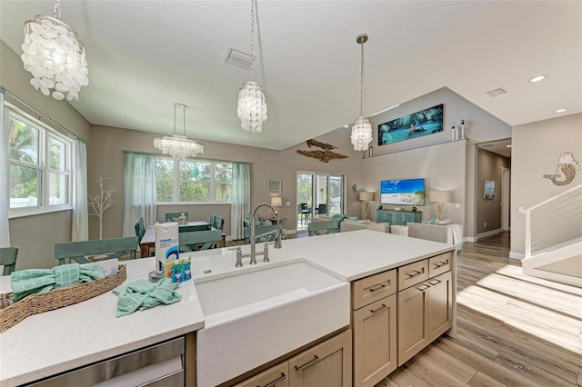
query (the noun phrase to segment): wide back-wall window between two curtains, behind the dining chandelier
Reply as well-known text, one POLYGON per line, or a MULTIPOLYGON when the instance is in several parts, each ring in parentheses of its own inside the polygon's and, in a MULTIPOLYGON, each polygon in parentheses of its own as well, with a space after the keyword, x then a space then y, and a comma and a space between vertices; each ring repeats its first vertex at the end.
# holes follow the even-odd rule
POLYGON ((230 203, 233 164, 156 158, 157 203, 230 203))

